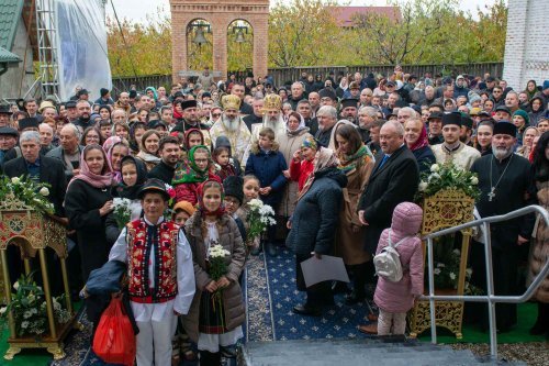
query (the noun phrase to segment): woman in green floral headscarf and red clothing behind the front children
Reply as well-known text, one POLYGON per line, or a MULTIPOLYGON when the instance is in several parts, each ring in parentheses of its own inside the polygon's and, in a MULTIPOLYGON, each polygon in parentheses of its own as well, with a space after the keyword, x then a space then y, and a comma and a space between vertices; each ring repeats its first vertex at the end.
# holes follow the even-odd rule
POLYGON ((198 203, 200 184, 212 178, 213 174, 210 151, 204 145, 197 145, 189 152, 187 160, 176 165, 172 186, 176 189, 176 201, 198 203))

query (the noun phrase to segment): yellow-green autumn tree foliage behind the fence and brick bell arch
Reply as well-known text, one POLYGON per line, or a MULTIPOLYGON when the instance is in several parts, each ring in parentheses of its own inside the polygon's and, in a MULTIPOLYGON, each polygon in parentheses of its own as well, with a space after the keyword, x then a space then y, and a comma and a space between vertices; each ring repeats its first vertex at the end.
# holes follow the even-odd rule
MULTIPOLYGON (((396 20, 359 14, 354 27, 340 27, 335 0, 280 1, 269 15, 269 67, 456 64, 501 62, 505 49, 507 8, 504 0, 477 9, 473 16, 459 10, 459 0, 392 0, 396 20)), ((158 10, 146 24, 122 22, 124 44, 116 22, 108 20, 109 59, 115 76, 171 73, 171 24, 158 10)), ((164 14, 164 15, 163 15, 164 14)), ((227 29, 228 69, 244 70, 253 64, 253 30, 237 43, 235 24, 227 29)), ((215 26, 213 24, 212 26, 215 26)), ((189 68, 212 67, 209 44, 189 46, 189 68)))

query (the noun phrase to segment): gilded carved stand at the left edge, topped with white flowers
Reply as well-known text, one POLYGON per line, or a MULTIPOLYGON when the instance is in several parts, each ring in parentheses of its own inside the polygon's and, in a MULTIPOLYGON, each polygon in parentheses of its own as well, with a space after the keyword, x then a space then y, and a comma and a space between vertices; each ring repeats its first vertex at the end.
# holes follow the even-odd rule
POLYGON ((9 244, 19 246, 24 260, 25 273, 31 273, 30 258, 40 256, 41 274, 44 281, 44 297, 46 301, 48 332, 42 336, 18 337, 13 315, 8 314, 10 325, 10 347, 5 352, 5 359, 13 359, 13 356, 23 348, 46 348, 54 355, 54 359, 65 357, 63 341, 76 325, 76 315, 72 311, 70 291, 67 278, 67 267, 65 258, 68 256, 66 230, 63 225, 51 218, 26 207, 16 198, 11 197, 0 203, 0 256, 2 269, 3 288, 0 288, 0 298, 5 298, 5 303, 10 303, 11 281, 9 275, 9 263, 7 248, 9 244), (66 296, 67 310, 72 314, 69 322, 58 324, 54 315, 54 304, 49 289, 48 269, 46 264, 45 248, 51 247, 60 258, 63 285, 66 296))

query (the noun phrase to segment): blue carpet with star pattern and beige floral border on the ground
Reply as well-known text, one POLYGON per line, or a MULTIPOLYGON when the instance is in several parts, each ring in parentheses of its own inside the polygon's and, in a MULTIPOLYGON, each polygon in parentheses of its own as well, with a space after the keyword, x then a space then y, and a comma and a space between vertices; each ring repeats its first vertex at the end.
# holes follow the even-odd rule
MULTIPOLYGON (((245 278, 244 342, 366 336, 357 325, 367 323, 367 307, 346 306, 341 295, 335 297, 335 306, 327 308, 321 318, 292 312, 295 304, 304 301, 305 293, 295 288, 295 260, 287 249, 279 248, 272 258, 264 254, 250 257, 245 278)), ((105 365, 91 351, 91 323, 83 315, 80 321, 85 331, 70 335, 66 342, 67 357, 53 362, 52 366, 105 365)))

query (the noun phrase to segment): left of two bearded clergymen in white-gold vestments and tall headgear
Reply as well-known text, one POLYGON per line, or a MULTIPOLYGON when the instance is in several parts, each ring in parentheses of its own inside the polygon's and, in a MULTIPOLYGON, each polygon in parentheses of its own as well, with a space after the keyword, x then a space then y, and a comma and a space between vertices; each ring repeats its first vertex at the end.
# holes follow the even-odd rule
MULTIPOLYGON (((238 159, 240 164, 246 164, 244 154, 248 151, 251 142, 251 133, 246 123, 238 115, 240 108, 240 98, 234 95, 223 96, 222 100, 223 113, 221 118, 210 129, 212 141, 217 141, 217 137, 225 136, 231 142, 233 157, 238 159)), ((217 146, 215 146, 217 147, 217 146)))

